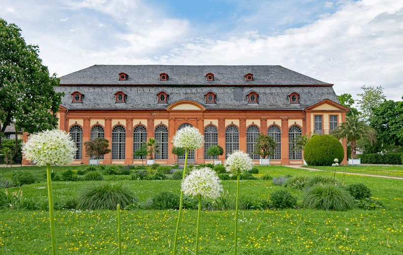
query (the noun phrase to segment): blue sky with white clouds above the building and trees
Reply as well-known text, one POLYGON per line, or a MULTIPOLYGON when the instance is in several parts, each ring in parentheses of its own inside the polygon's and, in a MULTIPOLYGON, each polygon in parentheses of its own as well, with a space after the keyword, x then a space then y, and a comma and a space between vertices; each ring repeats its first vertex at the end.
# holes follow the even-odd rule
POLYGON ((400 0, 0 0, 58 77, 95 64, 281 65, 403 96, 400 0))

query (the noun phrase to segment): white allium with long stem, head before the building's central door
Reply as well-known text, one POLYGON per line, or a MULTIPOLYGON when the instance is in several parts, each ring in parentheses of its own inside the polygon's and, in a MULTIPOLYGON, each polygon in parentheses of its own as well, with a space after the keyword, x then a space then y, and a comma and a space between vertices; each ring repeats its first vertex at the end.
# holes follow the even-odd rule
MULTIPOLYGON (((203 136, 200 131, 192 126, 181 128, 173 136, 173 146, 185 149, 185 166, 183 168, 182 180, 186 175, 186 166, 188 162, 188 155, 190 149, 198 149, 202 147, 203 136)), ((183 191, 180 192, 178 222, 176 223, 175 240, 173 242, 173 255, 176 254, 176 243, 178 240, 179 223, 182 217, 182 203, 183 203, 183 191)))

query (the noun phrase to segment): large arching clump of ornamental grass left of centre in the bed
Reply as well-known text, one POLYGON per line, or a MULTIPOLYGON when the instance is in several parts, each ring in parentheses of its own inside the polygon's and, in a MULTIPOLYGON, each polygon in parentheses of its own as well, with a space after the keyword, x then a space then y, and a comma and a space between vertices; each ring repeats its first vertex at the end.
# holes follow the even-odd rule
POLYGON ((77 209, 116 210, 117 204, 124 208, 137 200, 134 193, 121 184, 103 182, 89 186, 81 191, 77 199, 77 209))

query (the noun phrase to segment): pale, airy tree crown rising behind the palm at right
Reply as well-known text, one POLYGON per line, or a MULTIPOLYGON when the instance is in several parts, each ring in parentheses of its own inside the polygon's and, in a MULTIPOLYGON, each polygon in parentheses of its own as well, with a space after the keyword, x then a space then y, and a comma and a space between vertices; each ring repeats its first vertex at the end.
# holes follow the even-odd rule
POLYGON ((383 101, 385 101, 385 95, 383 94, 383 87, 372 87, 365 85, 361 87, 364 92, 357 94, 357 96, 361 96, 361 100, 358 100, 358 105, 361 110, 361 117, 365 121, 369 121, 369 119, 373 115, 374 108, 378 107, 383 101))

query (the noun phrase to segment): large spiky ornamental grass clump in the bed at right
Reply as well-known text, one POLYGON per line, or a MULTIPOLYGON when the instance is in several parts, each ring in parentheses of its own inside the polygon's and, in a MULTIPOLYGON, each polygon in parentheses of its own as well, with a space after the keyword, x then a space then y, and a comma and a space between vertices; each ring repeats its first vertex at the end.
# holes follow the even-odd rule
POLYGON ((305 191, 303 205, 312 209, 346 211, 353 209, 354 199, 344 189, 335 185, 316 185, 305 191))

